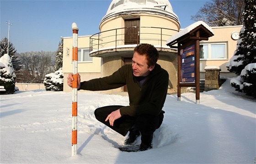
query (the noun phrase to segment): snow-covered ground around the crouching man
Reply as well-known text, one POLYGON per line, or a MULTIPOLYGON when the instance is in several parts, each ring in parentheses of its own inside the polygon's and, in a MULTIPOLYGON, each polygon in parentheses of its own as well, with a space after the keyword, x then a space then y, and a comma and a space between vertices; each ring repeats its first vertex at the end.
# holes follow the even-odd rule
MULTIPOLYGON (((0 163, 246 163, 256 157, 256 101, 234 91, 168 95, 165 118, 153 149, 121 152, 123 137, 94 117, 106 105, 128 105, 128 97, 78 94, 78 154, 71 156, 71 92, 15 92, 0 98, 0 163)), ((139 139, 137 139, 139 144, 139 139)))

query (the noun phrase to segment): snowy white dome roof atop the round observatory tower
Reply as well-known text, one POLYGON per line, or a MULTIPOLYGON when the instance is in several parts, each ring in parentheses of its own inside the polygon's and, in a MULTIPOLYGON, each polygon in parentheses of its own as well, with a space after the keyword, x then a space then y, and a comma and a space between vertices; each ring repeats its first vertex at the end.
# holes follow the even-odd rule
POLYGON ((133 13, 165 15, 179 22, 169 0, 112 0, 101 22, 113 16, 133 13))

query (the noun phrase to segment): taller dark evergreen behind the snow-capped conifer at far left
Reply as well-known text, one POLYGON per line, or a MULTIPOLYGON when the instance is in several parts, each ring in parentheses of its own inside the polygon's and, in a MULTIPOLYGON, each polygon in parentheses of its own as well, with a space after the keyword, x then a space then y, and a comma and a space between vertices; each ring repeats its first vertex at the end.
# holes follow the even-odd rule
MULTIPOLYGON (((4 56, 5 54, 7 54, 7 47, 8 47, 8 39, 6 37, 4 37, 1 41, 0 41, 0 57, 4 56)), ((9 51, 8 51, 8 55, 11 57, 11 62, 13 65, 13 68, 15 71, 19 71, 21 69, 21 61, 17 59, 17 54, 16 54, 16 49, 13 46, 13 44, 9 41, 9 51)))

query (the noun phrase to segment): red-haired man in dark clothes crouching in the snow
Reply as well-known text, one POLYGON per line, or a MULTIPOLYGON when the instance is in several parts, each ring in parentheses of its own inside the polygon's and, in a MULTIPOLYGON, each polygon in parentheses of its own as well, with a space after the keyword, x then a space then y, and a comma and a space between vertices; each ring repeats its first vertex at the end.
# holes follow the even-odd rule
MULTIPOLYGON (((80 82, 77 88, 90 91, 109 90, 127 85, 129 106, 113 105, 97 108, 95 117, 101 123, 129 137, 125 144, 133 144, 141 134, 140 151, 152 148, 153 133, 163 122, 162 110, 168 89, 168 72, 157 64, 159 53, 150 44, 134 48, 132 64, 124 65, 108 77, 80 82)), ((67 78, 72 87, 73 76, 67 78)))

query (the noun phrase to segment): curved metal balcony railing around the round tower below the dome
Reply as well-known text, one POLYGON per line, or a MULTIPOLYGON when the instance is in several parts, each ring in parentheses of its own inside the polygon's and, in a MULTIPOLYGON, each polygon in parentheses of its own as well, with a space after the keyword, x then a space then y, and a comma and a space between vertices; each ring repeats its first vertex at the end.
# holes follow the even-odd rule
POLYGON ((159 45, 162 48, 176 32, 178 31, 168 28, 136 26, 102 31, 90 37, 90 52, 140 43, 159 45))

